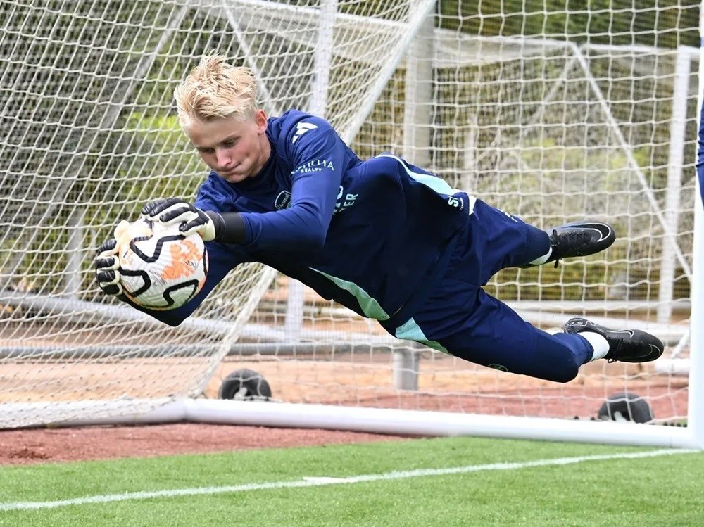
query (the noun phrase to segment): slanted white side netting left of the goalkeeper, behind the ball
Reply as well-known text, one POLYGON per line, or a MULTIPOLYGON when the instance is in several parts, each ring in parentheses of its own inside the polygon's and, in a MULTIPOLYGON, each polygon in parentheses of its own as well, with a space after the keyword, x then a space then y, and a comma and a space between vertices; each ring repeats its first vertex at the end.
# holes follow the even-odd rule
MULTIPOLYGON (((343 95, 336 124, 349 127, 428 6, 1 1, 0 400, 106 400, 108 414, 115 399, 200 393, 272 271, 242 265, 179 329, 112 303, 92 271, 118 220, 153 198, 192 198, 206 173, 177 126, 175 85, 217 50, 255 70, 270 111, 305 109, 319 100, 322 60, 343 95), (335 8, 346 17, 329 27, 335 8), (359 20, 385 29, 370 34, 359 20), (321 27, 339 44, 316 59, 321 27)), ((118 411, 151 405, 140 404, 118 411)), ((75 417, 4 412, 0 426, 75 417)))

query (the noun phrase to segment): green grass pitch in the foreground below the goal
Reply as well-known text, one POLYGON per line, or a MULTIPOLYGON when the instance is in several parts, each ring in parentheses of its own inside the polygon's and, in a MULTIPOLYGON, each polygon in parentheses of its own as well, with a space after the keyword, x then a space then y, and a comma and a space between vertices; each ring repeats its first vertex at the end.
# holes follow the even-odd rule
POLYGON ((0 468, 0 526, 702 526, 704 452, 521 467, 652 448, 480 438, 121 459, 0 468), (492 466, 492 464, 494 464, 492 466), (504 466, 495 464, 515 464, 504 466), (489 466, 486 466, 489 465, 489 466), (484 466, 358 483, 305 483, 484 466), (279 488, 230 489, 276 483, 279 488), (190 495, 111 495, 189 489, 190 495), (202 494, 196 494, 201 489, 202 494), (54 508, 17 502, 107 496, 54 508))

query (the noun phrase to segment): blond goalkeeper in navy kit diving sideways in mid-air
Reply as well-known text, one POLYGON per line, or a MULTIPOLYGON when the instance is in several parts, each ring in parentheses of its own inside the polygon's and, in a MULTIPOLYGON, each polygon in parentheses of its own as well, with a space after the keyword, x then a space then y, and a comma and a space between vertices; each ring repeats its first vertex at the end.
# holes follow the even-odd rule
POLYGON ((605 250, 616 238, 610 225, 543 231, 391 153, 360 160, 320 117, 289 110, 269 118, 251 71, 220 56, 203 58, 175 100, 210 173, 194 203, 165 198, 142 215, 202 236, 206 283, 175 310, 137 307, 120 286, 110 239, 95 260, 106 294, 177 326, 237 265, 261 262, 397 338, 504 372, 564 383, 593 360, 662 355, 662 342, 645 331, 582 317, 548 334, 482 288, 507 267, 605 250))

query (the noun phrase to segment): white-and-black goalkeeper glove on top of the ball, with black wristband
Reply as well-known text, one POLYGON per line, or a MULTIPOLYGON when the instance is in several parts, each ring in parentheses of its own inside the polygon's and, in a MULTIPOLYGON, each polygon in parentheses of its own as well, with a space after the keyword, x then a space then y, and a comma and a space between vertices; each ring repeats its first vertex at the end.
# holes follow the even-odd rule
POLYGON ((142 217, 165 225, 180 223, 179 231, 185 236, 197 232, 203 241, 244 243, 245 239, 244 220, 237 212, 203 211, 180 198, 147 203, 142 208, 142 217))

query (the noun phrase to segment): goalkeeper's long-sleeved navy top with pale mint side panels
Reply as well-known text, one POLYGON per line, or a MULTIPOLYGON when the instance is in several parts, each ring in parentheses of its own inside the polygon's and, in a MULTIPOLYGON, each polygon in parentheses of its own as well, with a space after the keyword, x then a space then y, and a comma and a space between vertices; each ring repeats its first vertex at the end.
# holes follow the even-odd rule
POLYGON ((391 154, 361 161, 325 120, 297 110, 270 118, 266 134, 272 154, 259 174, 232 184, 210 172, 195 203, 241 213, 246 241, 207 242, 200 293, 149 314, 180 324, 234 267, 257 261, 364 317, 413 316, 410 306, 427 296, 466 228, 473 198, 391 154))

